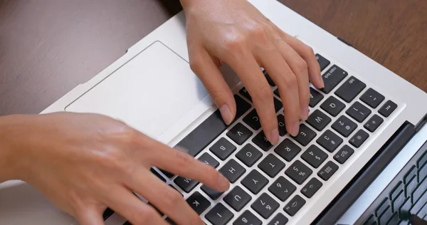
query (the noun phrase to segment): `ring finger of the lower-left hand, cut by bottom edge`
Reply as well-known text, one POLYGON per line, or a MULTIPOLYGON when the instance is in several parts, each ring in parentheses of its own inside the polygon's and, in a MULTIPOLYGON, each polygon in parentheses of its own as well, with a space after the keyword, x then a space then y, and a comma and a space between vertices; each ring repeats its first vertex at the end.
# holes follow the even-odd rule
POLYGON ((108 192, 105 197, 105 204, 132 224, 167 225, 167 222, 160 217, 155 209, 142 202, 124 187, 117 187, 113 192, 108 192))

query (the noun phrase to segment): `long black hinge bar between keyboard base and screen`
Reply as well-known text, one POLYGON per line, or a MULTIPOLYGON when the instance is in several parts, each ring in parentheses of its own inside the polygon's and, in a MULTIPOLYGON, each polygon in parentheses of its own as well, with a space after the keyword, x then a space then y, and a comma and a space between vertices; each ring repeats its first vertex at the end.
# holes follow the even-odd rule
POLYGON ((312 224, 335 224, 415 134, 415 126, 404 122, 312 224))

